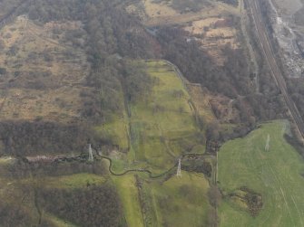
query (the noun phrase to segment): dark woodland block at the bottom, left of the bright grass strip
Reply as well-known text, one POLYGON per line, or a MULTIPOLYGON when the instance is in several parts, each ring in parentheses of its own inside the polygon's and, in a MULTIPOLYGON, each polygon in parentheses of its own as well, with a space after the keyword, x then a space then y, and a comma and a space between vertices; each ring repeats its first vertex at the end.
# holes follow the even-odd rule
POLYGON ((72 192, 64 189, 37 191, 40 209, 64 220, 80 226, 123 226, 121 204, 111 185, 87 185, 72 192))

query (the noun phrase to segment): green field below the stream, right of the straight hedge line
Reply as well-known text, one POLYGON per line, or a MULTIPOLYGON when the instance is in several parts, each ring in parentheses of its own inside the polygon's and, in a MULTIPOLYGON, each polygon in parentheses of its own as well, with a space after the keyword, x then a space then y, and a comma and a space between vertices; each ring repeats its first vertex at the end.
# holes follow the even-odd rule
POLYGON ((154 226, 201 226, 210 205, 206 196, 209 183, 203 175, 182 172, 181 178, 148 185, 156 220, 154 226))

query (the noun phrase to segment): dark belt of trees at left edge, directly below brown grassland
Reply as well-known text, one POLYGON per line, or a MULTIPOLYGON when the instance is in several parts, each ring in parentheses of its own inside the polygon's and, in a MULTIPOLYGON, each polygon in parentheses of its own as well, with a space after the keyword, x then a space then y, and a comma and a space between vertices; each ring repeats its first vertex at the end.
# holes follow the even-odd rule
POLYGON ((1 121, 1 155, 33 156, 83 152, 88 140, 101 143, 84 124, 64 125, 45 121, 1 121), (95 138, 95 140, 94 140, 95 138))

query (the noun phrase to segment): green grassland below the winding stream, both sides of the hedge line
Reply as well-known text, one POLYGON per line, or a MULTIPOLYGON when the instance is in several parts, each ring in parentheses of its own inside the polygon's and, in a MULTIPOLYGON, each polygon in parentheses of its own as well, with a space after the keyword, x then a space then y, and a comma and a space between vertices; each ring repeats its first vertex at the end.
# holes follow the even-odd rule
POLYGON ((182 172, 162 183, 140 175, 141 193, 134 175, 113 176, 128 226, 201 226, 210 209, 209 182, 203 175, 182 172), (141 202, 142 201, 142 202, 141 202))

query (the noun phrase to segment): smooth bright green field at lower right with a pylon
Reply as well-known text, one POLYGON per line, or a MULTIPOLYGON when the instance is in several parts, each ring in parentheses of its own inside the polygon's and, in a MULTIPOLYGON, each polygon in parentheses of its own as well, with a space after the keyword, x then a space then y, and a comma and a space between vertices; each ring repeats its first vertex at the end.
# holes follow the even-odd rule
POLYGON ((240 186, 262 194, 263 208, 252 218, 227 199, 220 207, 221 226, 303 226, 303 159, 283 138, 286 121, 264 124, 249 136, 221 147, 219 181, 225 193, 240 186), (270 151, 264 150, 270 134, 270 151))

